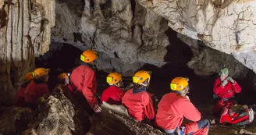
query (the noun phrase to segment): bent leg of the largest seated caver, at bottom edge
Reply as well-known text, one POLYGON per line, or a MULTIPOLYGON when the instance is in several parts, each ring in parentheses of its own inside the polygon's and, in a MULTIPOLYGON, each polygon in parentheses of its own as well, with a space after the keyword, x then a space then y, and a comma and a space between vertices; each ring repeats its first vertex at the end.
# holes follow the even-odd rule
POLYGON ((208 119, 201 119, 198 122, 188 123, 185 125, 185 134, 207 135, 210 128, 208 119))

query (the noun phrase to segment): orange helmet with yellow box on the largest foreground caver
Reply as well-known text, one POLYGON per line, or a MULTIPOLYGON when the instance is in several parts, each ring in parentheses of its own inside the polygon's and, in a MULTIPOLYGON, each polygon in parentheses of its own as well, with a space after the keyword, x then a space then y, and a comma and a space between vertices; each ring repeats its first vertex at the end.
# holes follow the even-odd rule
POLYGON ((188 84, 188 78, 176 77, 172 80, 170 88, 172 89, 172 91, 183 91, 183 89, 187 87, 188 84))

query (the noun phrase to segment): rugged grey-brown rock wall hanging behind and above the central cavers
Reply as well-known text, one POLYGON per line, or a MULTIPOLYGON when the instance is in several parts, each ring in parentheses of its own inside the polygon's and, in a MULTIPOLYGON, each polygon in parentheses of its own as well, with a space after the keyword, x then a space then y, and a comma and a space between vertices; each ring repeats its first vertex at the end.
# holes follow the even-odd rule
POLYGON ((103 52, 99 69, 133 73, 144 63, 165 64, 168 25, 162 16, 134 1, 57 0, 52 41, 103 52), (97 3, 97 2, 96 2, 97 3), (94 6, 91 6, 94 5, 94 6), (86 46, 84 46, 86 45, 86 46))

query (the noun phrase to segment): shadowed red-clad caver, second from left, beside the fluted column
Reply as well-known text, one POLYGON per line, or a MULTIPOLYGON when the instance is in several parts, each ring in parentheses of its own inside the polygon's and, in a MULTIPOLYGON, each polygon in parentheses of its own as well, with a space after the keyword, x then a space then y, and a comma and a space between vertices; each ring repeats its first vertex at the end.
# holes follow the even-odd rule
POLYGON ((26 106, 32 109, 37 108, 37 99, 48 94, 48 69, 37 68, 34 70, 34 80, 28 84, 25 91, 26 106))

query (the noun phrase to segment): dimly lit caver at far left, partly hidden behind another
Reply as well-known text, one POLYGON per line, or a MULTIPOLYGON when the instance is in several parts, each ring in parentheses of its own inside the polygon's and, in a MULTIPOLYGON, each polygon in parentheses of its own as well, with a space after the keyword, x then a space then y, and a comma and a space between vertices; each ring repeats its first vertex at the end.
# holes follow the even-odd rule
POLYGON ((34 79, 34 74, 32 72, 27 73, 25 75, 25 83, 23 83, 19 89, 19 91, 16 92, 13 105, 18 107, 25 107, 26 101, 25 101, 25 91, 27 88, 27 85, 34 79))

